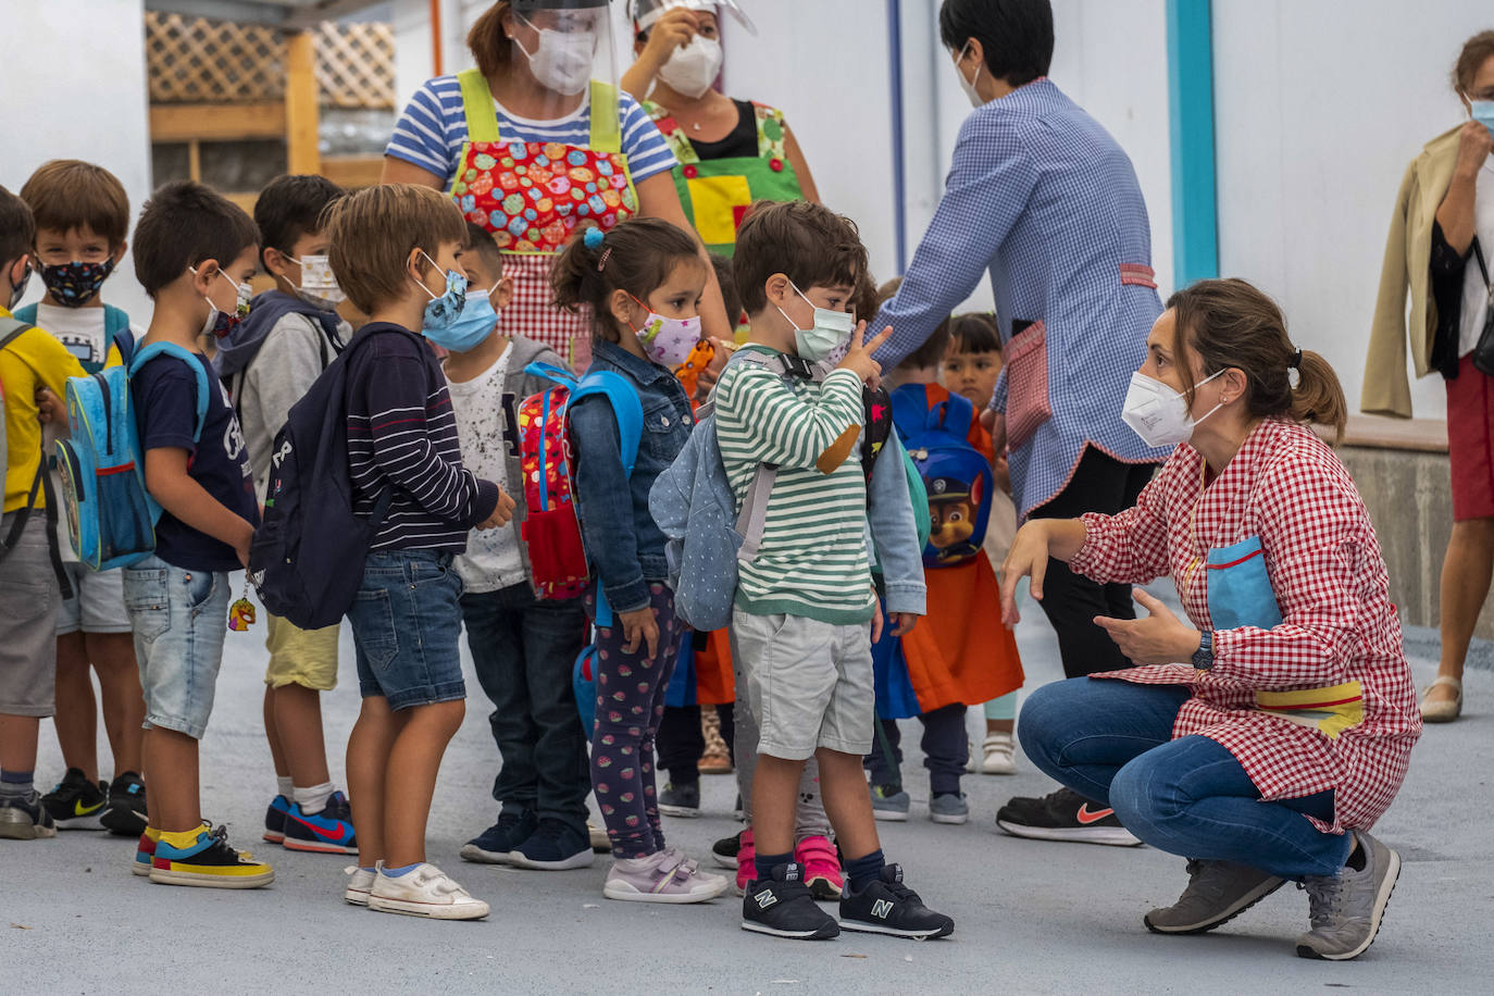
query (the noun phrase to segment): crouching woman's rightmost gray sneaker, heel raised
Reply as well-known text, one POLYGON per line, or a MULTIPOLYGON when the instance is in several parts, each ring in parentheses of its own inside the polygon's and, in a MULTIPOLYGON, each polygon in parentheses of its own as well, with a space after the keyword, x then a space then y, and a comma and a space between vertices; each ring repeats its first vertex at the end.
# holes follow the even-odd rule
POLYGON ((1337 875, 1303 880, 1310 905, 1312 930, 1297 938, 1304 959, 1348 962, 1374 942, 1380 917, 1395 891, 1400 854, 1364 830, 1354 830, 1364 851, 1364 871, 1345 866, 1337 875))

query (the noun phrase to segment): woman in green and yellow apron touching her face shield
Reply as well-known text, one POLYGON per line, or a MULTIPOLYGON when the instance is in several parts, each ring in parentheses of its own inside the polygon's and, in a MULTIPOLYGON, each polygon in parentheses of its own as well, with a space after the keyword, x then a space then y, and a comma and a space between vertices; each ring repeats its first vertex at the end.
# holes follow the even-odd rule
POLYGON ((810 166, 777 108, 735 100, 722 72, 722 15, 756 33, 735 0, 630 0, 636 60, 623 90, 642 102, 678 163, 680 203, 711 252, 732 255, 756 200, 813 200, 810 166))

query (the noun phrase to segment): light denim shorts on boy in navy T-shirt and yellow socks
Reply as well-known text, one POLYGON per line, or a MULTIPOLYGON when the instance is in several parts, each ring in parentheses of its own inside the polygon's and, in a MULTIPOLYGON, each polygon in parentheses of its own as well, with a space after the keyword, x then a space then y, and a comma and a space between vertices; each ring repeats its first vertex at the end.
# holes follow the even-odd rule
POLYGON ((145 726, 202 739, 229 629, 229 575, 160 557, 124 569, 124 608, 145 691, 145 726))

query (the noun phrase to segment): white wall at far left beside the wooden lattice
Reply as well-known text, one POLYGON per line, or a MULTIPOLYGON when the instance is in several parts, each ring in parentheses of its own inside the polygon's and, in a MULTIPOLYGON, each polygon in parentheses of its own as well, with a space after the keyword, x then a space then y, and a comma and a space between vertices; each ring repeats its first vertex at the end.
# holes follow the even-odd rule
MULTIPOLYGON (((143 0, 4 0, 0 184, 12 193, 54 158, 106 167, 130 194, 130 227, 151 193, 143 0), (88 25, 88 30, 79 30, 88 25)), ((25 303, 39 300, 34 276, 25 303)), ((105 297, 145 324, 149 302, 125 257, 105 297)))

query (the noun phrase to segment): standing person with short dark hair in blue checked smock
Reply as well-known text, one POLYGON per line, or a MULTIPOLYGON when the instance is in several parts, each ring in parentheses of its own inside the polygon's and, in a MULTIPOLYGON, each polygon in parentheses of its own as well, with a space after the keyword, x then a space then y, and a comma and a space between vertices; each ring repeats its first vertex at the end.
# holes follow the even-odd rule
MULTIPOLYGON (((1019 515, 1116 514, 1167 457, 1120 421, 1162 312, 1135 170, 1047 79, 1049 0, 944 0, 940 37, 976 111, 902 287, 871 323, 893 329, 877 361, 889 369, 913 352, 989 273, 1005 354, 992 442, 1010 448, 1019 515)), ((1129 587, 1052 561, 1044 588, 1068 676, 1129 664, 1092 621, 1134 618, 1129 587)), ((1013 799, 996 821, 1019 836, 1137 844, 1106 806, 1068 788, 1013 799)))

